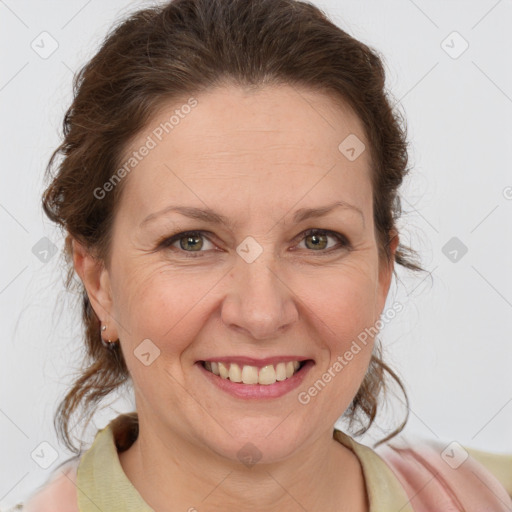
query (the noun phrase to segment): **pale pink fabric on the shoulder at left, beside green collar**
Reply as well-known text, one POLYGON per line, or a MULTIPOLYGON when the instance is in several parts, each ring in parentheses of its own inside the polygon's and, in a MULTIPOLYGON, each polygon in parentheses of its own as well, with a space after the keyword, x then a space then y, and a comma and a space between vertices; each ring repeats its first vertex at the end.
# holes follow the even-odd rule
MULTIPOLYGON (((21 508, 22 512, 79 512, 76 490, 76 476, 80 458, 61 464, 39 489, 32 494, 21 508)), ((19 507, 19 505, 18 505, 19 507)))

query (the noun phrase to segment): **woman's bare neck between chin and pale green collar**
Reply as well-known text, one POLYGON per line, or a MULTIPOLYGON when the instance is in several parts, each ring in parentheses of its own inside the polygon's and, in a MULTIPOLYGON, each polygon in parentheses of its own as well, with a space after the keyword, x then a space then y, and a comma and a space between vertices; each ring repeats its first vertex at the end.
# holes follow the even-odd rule
POLYGON ((285 512, 369 510, 355 454, 325 432, 293 456, 244 465, 166 432, 140 428, 119 454, 144 501, 158 512, 211 510, 285 512))

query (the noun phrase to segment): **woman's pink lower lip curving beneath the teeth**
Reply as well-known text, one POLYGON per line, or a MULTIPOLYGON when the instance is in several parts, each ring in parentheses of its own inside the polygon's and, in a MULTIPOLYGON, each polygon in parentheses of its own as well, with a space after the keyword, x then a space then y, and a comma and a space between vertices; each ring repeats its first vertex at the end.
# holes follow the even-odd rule
POLYGON ((203 367, 201 362, 197 362, 196 364, 200 371, 205 375, 205 377, 222 391, 225 391, 226 393, 236 398, 254 400, 279 398, 280 396, 289 393, 302 383, 302 380, 305 378, 306 374, 314 366, 315 363, 311 360, 306 361, 302 368, 297 373, 294 373, 289 379, 277 381, 274 384, 268 385, 231 382, 229 379, 223 379, 222 377, 209 372, 206 368, 203 367))

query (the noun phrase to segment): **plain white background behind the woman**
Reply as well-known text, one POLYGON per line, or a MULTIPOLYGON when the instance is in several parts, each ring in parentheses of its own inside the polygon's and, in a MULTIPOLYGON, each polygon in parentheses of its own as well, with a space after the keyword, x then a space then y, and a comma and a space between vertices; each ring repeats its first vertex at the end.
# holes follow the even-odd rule
MULTIPOLYGON (((388 88, 408 119, 414 170, 403 187, 402 238, 431 275, 399 270, 389 304, 405 308, 381 333, 385 360, 410 396, 406 430, 512 453, 512 3, 313 3, 384 56, 388 88), (460 36, 448 37, 453 31, 460 36), (469 47, 452 58, 461 37, 469 47), (457 262, 442 251, 452 237, 468 248, 457 262)), ((60 140, 73 72, 115 20, 145 5, 0 1, 0 507, 24 498, 69 456, 52 419, 80 364, 81 326, 59 256, 43 263, 32 252, 43 237, 62 248, 40 207, 43 172, 60 140), (58 42, 47 59, 31 48, 43 31, 58 42), (58 453, 48 469, 31 458, 41 442, 58 453)), ((392 403, 360 442, 398 424, 404 411, 392 403)), ((98 415, 94 428, 115 414, 98 415)))

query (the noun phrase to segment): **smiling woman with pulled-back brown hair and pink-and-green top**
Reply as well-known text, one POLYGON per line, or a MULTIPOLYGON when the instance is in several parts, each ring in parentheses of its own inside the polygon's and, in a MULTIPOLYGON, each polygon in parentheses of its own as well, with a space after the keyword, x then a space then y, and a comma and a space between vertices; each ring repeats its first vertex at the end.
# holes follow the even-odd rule
POLYGON ((376 54, 291 0, 178 0, 77 77, 43 206, 89 366, 57 424, 132 382, 25 510, 510 510, 511 457, 373 423, 405 133, 376 54), (366 420, 366 424, 364 424, 366 420), (334 432, 333 432, 334 430, 334 432), (487 466, 487 467, 486 467, 487 466))

